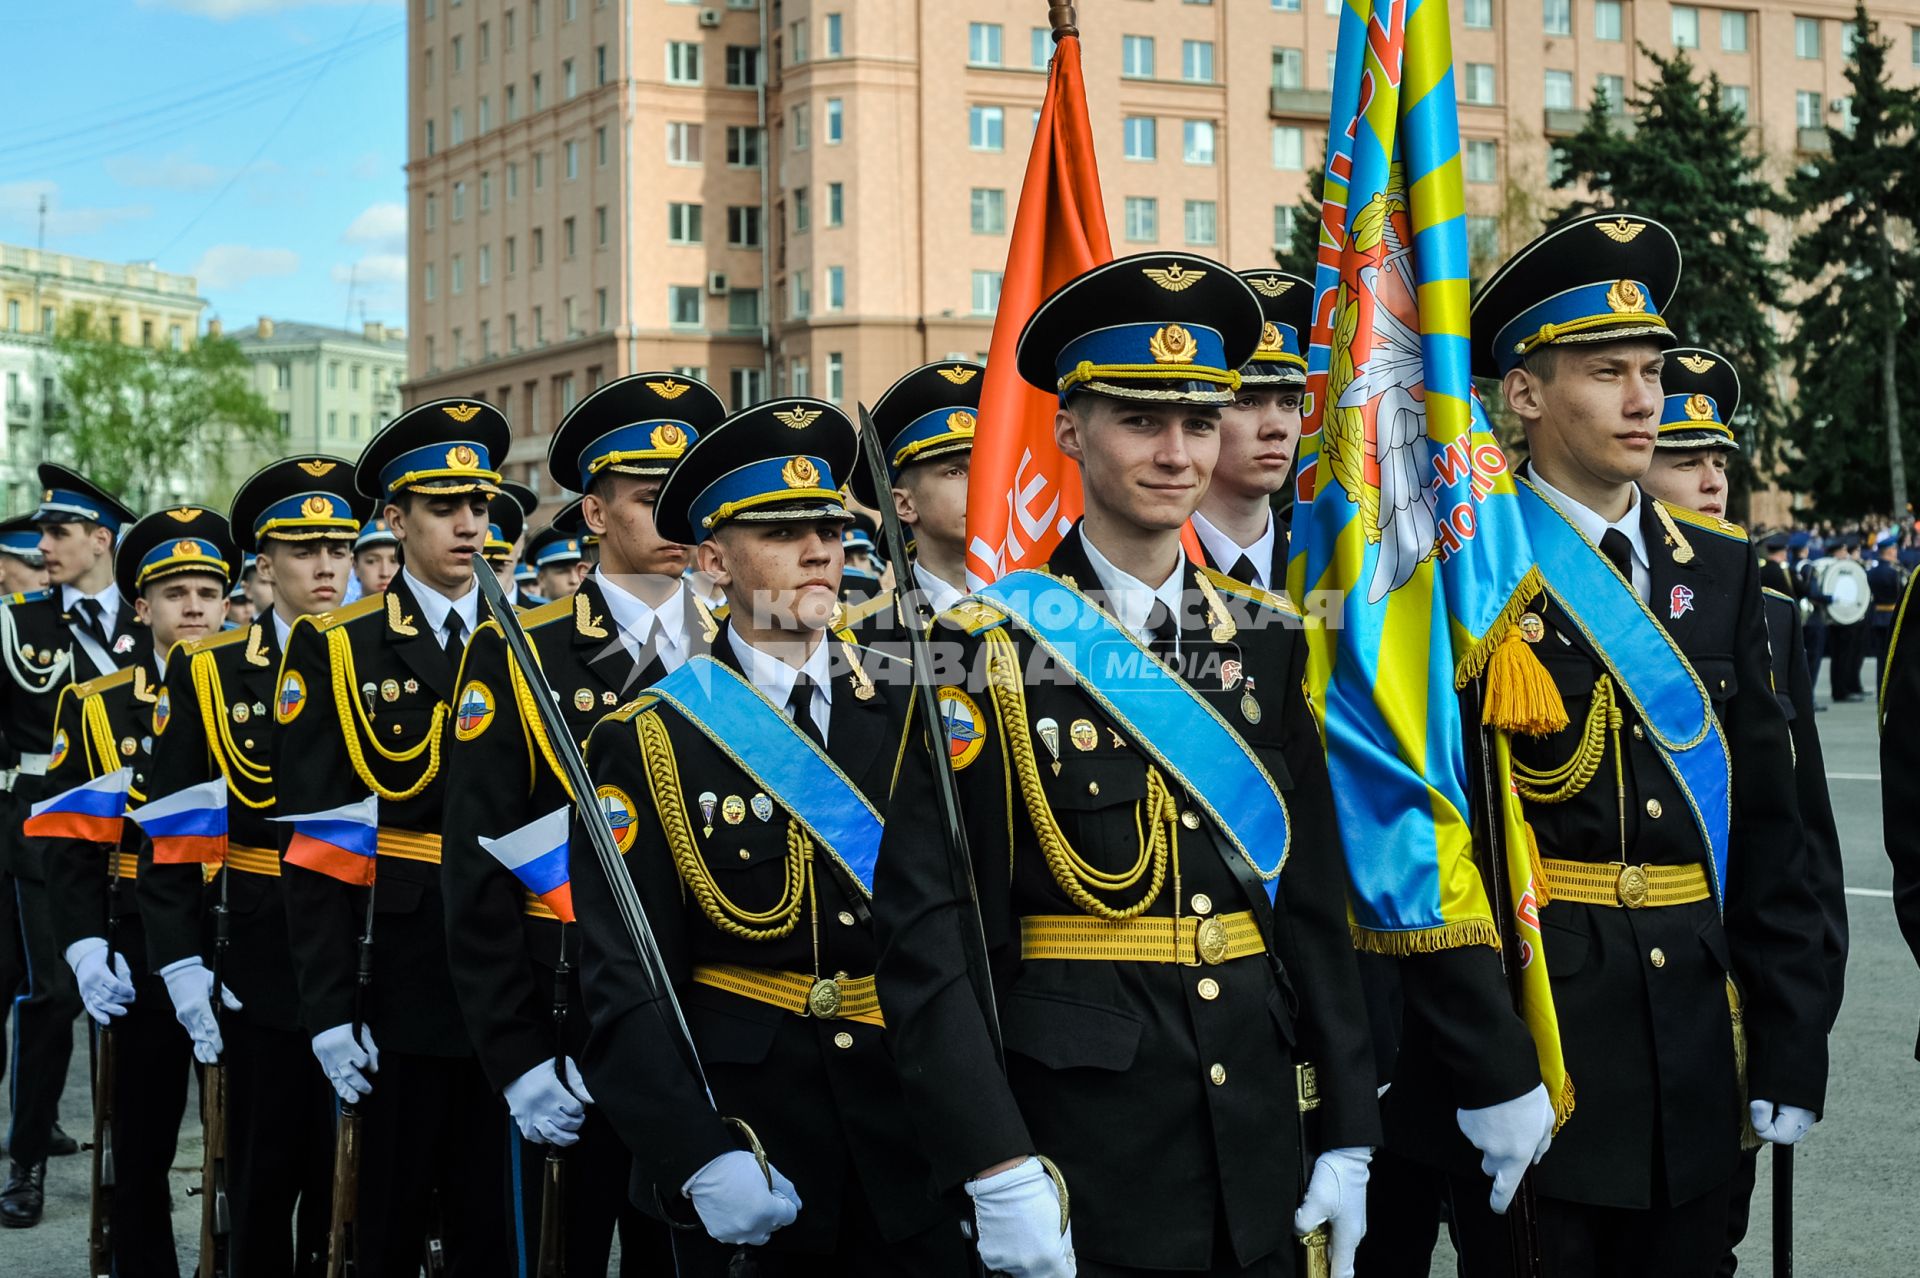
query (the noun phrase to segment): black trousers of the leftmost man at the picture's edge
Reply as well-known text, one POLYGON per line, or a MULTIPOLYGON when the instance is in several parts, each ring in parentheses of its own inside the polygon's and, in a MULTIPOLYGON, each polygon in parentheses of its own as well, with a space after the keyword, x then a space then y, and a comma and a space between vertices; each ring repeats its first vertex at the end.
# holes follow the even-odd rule
MULTIPOLYGON (((12 837, 19 839, 19 831, 12 831, 12 837)), ((8 1132, 8 1151, 15 1163, 31 1165, 46 1159, 46 1146, 54 1138, 60 1094, 67 1088, 67 1065, 73 1059, 73 1019, 81 1015, 81 986, 73 982, 73 969, 54 940, 46 883, 15 875, 13 898, 27 950, 27 992, 13 1000, 13 1126, 8 1132)), ((121 944, 121 952, 144 971, 144 946, 134 954, 121 944)), ((165 982, 159 984, 159 1000, 173 1021, 165 982)))

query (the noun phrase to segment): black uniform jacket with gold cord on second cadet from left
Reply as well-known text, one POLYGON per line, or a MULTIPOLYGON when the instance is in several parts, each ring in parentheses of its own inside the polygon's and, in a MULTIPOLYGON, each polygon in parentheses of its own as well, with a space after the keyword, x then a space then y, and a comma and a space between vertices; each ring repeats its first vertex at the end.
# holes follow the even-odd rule
MULTIPOLYGON (((132 768, 127 806, 140 806, 152 769, 157 698, 159 674, 152 656, 127 670, 67 685, 54 718, 54 737, 58 741, 65 733, 67 746, 54 750, 56 762, 46 771, 46 793, 60 794, 117 768, 132 768)), ((138 942, 140 908, 132 885, 140 844, 146 842, 140 827, 132 821, 123 823, 117 846, 79 839, 36 842, 46 854, 54 944, 65 952, 83 936, 106 936, 111 913, 117 927, 113 948, 125 954, 138 973, 146 958, 138 942), (113 879, 119 883, 111 883, 113 879)))

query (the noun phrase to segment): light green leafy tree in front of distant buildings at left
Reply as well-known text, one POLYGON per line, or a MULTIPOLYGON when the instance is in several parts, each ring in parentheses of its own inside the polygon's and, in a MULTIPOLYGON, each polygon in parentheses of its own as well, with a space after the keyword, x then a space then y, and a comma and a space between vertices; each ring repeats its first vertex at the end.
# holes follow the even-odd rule
POLYGON ((169 501, 223 507, 234 462, 278 441, 275 413, 230 338, 179 351, 129 345, 75 311, 54 353, 61 413, 46 451, 134 510, 169 501))

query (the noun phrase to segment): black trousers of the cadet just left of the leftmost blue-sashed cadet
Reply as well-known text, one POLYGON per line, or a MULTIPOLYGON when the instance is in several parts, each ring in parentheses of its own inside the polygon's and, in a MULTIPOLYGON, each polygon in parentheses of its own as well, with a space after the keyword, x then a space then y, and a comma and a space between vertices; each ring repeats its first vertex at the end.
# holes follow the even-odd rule
MULTIPOLYGON (((620 1136, 599 1109, 588 1105, 580 1144, 561 1149, 561 1165, 564 1167, 561 1220, 568 1274, 605 1274, 614 1232, 620 1236, 620 1278, 664 1278, 674 1272, 668 1228, 628 1201, 634 1155, 620 1144, 620 1136)), ((513 1178, 518 1186, 515 1243, 522 1274, 534 1274, 538 1268, 545 1169, 547 1146, 515 1142, 513 1178)))

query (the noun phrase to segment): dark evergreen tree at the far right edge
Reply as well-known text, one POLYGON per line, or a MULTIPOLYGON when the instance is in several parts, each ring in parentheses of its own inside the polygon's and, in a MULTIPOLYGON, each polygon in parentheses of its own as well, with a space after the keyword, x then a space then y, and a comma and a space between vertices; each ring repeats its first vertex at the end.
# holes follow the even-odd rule
POLYGON ((1788 182, 1803 225, 1788 267, 1807 286, 1795 342, 1805 447, 1793 480, 1832 518, 1905 512, 1920 455, 1901 418, 1901 384, 1920 372, 1908 305, 1920 274, 1920 92, 1891 84, 1891 40, 1864 6, 1853 21, 1851 109, 1826 129, 1830 154, 1788 182))

